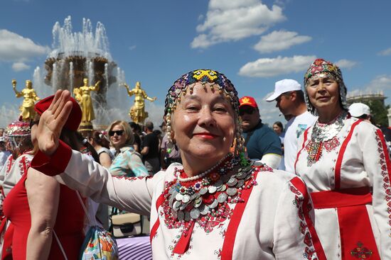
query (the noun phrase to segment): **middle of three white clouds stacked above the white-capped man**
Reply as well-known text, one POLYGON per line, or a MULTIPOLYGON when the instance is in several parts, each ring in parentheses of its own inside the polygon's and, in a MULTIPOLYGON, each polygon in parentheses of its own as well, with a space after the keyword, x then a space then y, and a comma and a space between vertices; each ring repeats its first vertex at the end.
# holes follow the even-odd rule
POLYGON ((259 43, 254 45, 254 49, 261 53, 269 53, 286 50, 293 45, 299 45, 312 40, 310 36, 297 34, 296 32, 274 30, 272 33, 262 36, 259 43))

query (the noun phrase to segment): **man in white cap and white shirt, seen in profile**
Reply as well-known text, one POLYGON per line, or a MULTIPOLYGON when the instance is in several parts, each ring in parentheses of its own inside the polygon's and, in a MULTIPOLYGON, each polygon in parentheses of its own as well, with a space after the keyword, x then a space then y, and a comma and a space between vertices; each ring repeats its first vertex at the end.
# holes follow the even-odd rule
POLYGON ((294 172, 297 155, 297 142, 300 135, 314 124, 316 117, 307 111, 301 85, 294 79, 277 81, 268 102, 277 101, 277 108, 285 117, 291 116, 285 126, 284 164, 285 171, 294 172))

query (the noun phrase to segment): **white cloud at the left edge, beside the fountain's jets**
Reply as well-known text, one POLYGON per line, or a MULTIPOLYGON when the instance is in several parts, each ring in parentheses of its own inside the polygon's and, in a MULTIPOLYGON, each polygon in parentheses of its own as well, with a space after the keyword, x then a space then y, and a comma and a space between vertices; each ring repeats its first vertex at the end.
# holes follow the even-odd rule
POLYGON ((29 38, 9 30, 0 30, 0 62, 23 62, 31 57, 45 55, 48 51, 48 47, 37 45, 29 38))

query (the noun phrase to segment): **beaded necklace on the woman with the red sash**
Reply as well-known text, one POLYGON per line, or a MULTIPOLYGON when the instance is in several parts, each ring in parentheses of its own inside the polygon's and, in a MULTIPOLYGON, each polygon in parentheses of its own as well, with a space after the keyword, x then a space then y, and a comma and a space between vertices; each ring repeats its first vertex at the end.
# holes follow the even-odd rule
POLYGON ((338 135, 338 132, 340 132, 343 125, 345 125, 347 116, 348 113, 342 111, 330 123, 319 123, 319 120, 316 120, 314 128, 312 128, 311 141, 306 146, 309 154, 307 158, 309 165, 318 162, 318 159, 322 156, 322 149, 325 145, 328 145, 329 142, 338 142, 338 140, 336 140, 336 135, 338 135))

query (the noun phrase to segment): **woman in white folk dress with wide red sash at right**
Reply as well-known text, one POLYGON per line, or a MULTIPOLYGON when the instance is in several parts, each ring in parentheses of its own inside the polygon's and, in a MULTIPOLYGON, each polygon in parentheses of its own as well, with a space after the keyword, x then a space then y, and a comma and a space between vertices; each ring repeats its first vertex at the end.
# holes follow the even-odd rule
POLYGON ((295 168, 311 192, 327 259, 391 259, 391 164, 382 132, 348 114, 335 64, 315 60, 304 86, 318 120, 301 135, 295 168))

